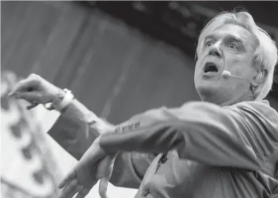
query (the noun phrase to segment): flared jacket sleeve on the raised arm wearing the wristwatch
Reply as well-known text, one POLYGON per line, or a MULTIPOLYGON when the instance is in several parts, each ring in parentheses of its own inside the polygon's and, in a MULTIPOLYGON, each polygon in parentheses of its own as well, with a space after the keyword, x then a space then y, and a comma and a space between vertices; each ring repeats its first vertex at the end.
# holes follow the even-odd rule
POLYGON ((96 115, 78 100, 73 99, 61 112, 48 134, 75 159, 80 160, 101 131, 89 127, 96 115))

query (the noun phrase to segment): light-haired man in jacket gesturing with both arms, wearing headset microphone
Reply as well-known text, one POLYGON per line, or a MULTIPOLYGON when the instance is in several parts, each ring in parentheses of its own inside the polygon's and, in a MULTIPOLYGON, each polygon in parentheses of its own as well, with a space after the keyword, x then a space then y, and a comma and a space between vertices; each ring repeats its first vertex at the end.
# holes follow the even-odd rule
POLYGON ((275 43, 249 13, 221 13, 201 32, 196 56, 202 102, 150 110, 117 127, 39 76, 15 86, 10 95, 52 102, 62 113, 50 135, 80 161, 61 182, 60 197, 85 197, 110 176, 114 185, 139 188, 136 197, 278 195, 278 113, 263 100, 275 43))

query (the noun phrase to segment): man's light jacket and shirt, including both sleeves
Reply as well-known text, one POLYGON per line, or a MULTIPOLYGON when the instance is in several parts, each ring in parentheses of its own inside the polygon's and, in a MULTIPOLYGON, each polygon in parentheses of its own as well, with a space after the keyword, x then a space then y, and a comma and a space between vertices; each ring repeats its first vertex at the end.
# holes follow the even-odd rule
MULTIPOLYGON (((88 132, 89 111, 78 109, 68 108, 49 132, 77 159, 97 135, 88 132)), ((163 107, 115 132, 101 137, 107 153, 121 150, 110 181, 139 188, 136 197, 278 196, 278 113, 268 101, 163 107)))

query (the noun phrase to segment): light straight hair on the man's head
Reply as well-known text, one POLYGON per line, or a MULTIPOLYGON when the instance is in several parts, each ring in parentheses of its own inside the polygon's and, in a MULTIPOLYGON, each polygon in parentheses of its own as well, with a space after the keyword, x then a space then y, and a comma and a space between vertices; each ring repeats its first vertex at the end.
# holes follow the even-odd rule
POLYGON ((265 71, 265 76, 259 87, 256 87, 254 91, 254 99, 264 99, 270 90, 272 89, 273 75, 275 71, 275 65, 277 64, 277 47, 275 41, 272 41, 270 35, 258 27, 254 22, 253 17, 247 13, 247 11, 240 12, 223 12, 215 16, 200 33, 198 39, 198 46, 196 50, 196 56, 200 54, 202 50, 203 41, 205 36, 210 34, 214 29, 220 27, 223 24, 237 24, 244 27, 256 36, 258 45, 254 51, 254 66, 259 71, 265 71))

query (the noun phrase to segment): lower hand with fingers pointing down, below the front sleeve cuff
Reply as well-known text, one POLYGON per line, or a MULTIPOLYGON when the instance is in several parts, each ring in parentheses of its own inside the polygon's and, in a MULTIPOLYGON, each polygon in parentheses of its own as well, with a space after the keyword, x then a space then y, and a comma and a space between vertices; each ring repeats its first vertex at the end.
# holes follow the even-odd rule
POLYGON ((106 189, 109 178, 112 174, 112 166, 115 156, 108 155, 99 145, 100 136, 92 143, 86 153, 82 156, 78 164, 59 184, 59 188, 64 188, 58 198, 71 198, 76 193, 76 198, 85 197, 101 179, 99 193, 101 197, 106 197, 106 189))

